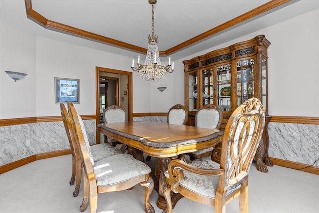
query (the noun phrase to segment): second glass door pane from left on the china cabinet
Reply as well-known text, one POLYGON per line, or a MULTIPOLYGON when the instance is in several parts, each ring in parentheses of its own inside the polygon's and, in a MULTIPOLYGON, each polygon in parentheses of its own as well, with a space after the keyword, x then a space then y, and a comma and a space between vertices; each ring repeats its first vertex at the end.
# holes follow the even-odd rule
POLYGON ((213 68, 202 70, 202 106, 213 103, 213 68))

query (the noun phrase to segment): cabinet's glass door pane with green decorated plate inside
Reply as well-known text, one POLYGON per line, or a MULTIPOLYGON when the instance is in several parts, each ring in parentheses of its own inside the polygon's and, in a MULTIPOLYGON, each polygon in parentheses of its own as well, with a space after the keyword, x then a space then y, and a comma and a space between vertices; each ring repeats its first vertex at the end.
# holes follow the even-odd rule
POLYGON ((231 64, 216 67, 217 105, 221 111, 231 111, 231 64))

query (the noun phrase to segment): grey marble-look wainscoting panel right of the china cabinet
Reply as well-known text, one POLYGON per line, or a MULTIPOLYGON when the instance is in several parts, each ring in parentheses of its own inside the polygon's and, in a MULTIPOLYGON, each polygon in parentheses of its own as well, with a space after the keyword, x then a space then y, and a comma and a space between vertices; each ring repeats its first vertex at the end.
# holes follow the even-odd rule
POLYGON ((268 135, 270 157, 307 165, 319 158, 319 125, 269 122, 268 135))

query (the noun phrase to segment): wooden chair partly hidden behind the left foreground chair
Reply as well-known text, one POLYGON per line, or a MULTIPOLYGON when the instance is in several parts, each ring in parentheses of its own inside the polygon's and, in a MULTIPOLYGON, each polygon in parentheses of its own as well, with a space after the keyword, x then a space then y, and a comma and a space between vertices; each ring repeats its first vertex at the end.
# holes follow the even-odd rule
MULTIPOLYGON (((68 137, 70 147, 71 147, 72 176, 70 180, 70 185, 73 185, 74 182, 76 182, 75 189, 73 191, 73 196, 76 197, 79 194, 79 189, 81 185, 81 159, 77 149, 77 145, 75 143, 73 132, 70 129, 71 124, 69 123, 69 114, 63 103, 60 104, 60 109, 61 109, 62 121, 66 131, 66 135, 68 137)), ((122 154, 122 152, 119 149, 111 146, 110 144, 95 144, 90 146, 90 143, 85 131, 84 123, 80 116, 79 116, 79 120, 81 123, 81 128, 83 129, 82 132, 85 138, 85 143, 91 149, 91 153, 92 153, 92 157, 94 161, 104 159, 107 156, 122 154)))

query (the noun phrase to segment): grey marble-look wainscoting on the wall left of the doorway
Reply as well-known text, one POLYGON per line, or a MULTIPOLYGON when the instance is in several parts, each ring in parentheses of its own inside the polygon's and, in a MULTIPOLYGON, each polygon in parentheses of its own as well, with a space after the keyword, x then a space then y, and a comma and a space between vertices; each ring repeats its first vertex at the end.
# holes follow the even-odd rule
MULTIPOLYGON (((95 144, 95 120, 83 122, 90 144, 95 144)), ((0 134, 0 166, 35 154, 70 148, 62 121, 2 126, 0 134), (30 140, 30 146, 26 146, 26 140, 30 140)))

